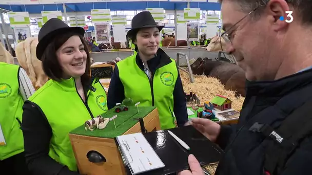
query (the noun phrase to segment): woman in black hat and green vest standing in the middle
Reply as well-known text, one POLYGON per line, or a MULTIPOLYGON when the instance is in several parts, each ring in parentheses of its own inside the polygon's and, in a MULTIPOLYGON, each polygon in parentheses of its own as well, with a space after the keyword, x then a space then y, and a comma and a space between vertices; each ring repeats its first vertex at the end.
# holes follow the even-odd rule
POLYGON ((161 128, 188 123, 186 99, 175 61, 159 48, 160 31, 148 11, 136 14, 127 36, 135 45, 134 55, 118 62, 110 81, 108 108, 125 98, 141 106, 158 108, 161 128), (174 115, 173 115, 174 114, 174 115), (174 117, 175 116, 175 117, 174 117))

